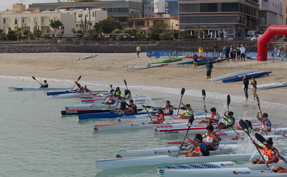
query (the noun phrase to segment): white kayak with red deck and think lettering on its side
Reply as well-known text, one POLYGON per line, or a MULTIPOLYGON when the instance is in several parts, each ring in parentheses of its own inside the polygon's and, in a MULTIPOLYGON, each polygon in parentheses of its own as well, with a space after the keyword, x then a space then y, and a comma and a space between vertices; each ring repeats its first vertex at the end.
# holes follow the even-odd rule
MULTIPOLYGON (((274 126, 279 126, 282 125, 282 123, 272 123, 272 127, 274 126)), ((240 127, 239 124, 235 124, 235 127, 240 127)), ((261 123, 257 123, 257 124, 252 124, 253 128, 261 128, 261 123)), ((169 128, 168 126, 166 128, 162 128, 160 130, 158 130, 156 127, 153 128, 154 132, 159 133, 159 134, 186 134, 188 127, 185 128, 169 128)), ((232 130, 232 129, 229 129, 232 130)), ((217 130, 214 130, 217 131, 217 130)), ((218 130, 219 132, 223 132, 226 131, 226 129, 221 129, 218 130)), ((202 127, 190 127, 188 133, 192 134, 192 133, 206 133, 206 126, 202 126, 202 127)))

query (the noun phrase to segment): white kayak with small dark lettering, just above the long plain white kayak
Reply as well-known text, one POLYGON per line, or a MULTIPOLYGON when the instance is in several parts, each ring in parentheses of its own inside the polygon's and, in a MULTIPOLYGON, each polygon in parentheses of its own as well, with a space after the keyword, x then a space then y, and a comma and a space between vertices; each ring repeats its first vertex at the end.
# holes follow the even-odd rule
MULTIPOLYGON (((215 151, 209 151, 211 155, 216 153, 226 153, 236 149, 237 144, 219 144, 219 149, 215 151)), ((130 151, 119 151, 114 153, 115 158, 127 158, 127 157, 140 157, 140 156, 155 156, 155 155, 176 155, 180 150, 180 147, 158 147, 153 149, 145 150, 130 150, 130 151)), ((181 152, 187 152, 190 150, 190 147, 183 147, 181 152)))

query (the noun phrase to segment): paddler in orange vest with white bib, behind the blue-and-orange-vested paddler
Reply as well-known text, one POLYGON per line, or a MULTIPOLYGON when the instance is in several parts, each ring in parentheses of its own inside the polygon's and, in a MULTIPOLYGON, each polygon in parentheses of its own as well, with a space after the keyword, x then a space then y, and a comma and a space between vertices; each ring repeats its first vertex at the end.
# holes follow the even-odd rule
POLYGON ((203 135, 203 138, 206 137, 206 145, 209 151, 218 150, 218 143, 221 141, 221 138, 218 133, 215 133, 214 127, 212 125, 208 125, 206 127, 207 133, 203 135))

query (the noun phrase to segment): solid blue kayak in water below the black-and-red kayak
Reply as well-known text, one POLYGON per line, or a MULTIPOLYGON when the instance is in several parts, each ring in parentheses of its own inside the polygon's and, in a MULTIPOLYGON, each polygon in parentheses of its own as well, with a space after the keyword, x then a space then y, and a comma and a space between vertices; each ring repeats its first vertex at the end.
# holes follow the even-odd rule
MULTIPOLYGON (((151 112, 155 114, 156 112, 151 112)), ((84 119, 100 119, 100 118, 117 118, 121 116, 128 115, 140 115, 147 114, 147 112, 137 112, 137 113, 115 113, 115 112, 99 112, 99 113, 90 113, 90 114, 80 114, 79 120, 84 119)))

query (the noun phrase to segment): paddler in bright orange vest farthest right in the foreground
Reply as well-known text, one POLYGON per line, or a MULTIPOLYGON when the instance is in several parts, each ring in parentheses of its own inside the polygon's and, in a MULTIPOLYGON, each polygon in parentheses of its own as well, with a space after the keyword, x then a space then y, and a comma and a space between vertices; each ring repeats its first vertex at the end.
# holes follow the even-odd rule
POLYGON ((266 140, 266 142, 271 147, 271 149, 269 149, 266 146, 261 146, 261 145, 257 144, 254 141, 254 139, 252 139, 251 142, 253 144, 255 144, 255 146, 258 149, 263 150, 263 157, 265 159, 265 161, 262 161, 262 160, 259 160, 259 159, 255 159, 251 164, 270 164, 270 163, 274 163, 274 162, 278 162, 279 161, 279 158, 276 156, 276 151, 277 151, 277 153, 279 153, 279 151, 275 147, 273 147, 273 141, 272 141, 271 137, 269 137, 269 139, 266 140), (274 149, 276 149, 276 151, 274 149))

